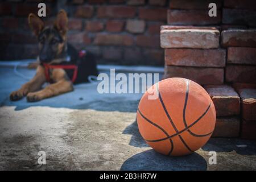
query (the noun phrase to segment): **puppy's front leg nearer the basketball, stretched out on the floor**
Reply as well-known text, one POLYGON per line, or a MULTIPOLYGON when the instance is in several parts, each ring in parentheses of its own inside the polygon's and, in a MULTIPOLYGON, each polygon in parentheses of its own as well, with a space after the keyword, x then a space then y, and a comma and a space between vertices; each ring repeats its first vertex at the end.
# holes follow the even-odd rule
POLYGON ((59 94, 71 92, 73 90, 72 82, 68 79, 63 69, 54 69, 52 75, 53 80, 55 80, 56 82, 54 84, 46 86, 46 88, 38 92, 28 93, 28 102, 40 101, 44 98, 57 96, 59 94))

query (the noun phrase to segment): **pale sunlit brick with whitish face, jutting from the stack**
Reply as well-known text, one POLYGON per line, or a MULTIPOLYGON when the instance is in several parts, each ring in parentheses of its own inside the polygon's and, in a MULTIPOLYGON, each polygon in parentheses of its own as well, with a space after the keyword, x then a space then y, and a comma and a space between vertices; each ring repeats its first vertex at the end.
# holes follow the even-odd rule
POLYGON ((214 27, 162 26, 162 48, 218 48, 220 31, 214 27))

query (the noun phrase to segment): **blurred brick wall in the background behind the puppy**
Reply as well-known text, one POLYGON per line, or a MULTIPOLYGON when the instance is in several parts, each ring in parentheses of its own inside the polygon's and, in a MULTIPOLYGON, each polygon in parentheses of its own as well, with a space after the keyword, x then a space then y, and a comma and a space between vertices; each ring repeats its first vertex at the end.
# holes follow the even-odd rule
MULTIPOLYGON (((0 2, 0 60, 29 59, 37 54, 27 16, 37 12, 38 0, 0 2)), ((160 26, 166 24, 166 0, 44 1, 47 24, 57 11, 69 15, 69 42, 97 55, 99 63, 163 65, 160 26)))

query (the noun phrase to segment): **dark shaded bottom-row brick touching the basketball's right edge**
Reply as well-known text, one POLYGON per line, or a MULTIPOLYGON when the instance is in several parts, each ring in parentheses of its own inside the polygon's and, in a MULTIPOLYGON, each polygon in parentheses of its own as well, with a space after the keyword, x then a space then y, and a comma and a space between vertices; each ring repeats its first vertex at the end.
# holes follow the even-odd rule
POLYGON ((239 137, 240 119, 237 117, 223 117, 216 119, 212 137, 239 137))

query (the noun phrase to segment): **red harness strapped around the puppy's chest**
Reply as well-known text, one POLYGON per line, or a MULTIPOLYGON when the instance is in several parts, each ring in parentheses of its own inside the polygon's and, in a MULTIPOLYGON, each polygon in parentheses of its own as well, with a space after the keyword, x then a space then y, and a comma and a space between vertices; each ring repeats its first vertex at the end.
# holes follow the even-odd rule
MULTIPOLYGON (((82 58, 84 57, 86 54, 86 52, 84 50, 79 52, 79 57, 82 58)), ((75 64, 67 64, 67 65, 51 65, 51 64, 47 64, 47 63, 43 63, 44 66, 44 75, 46 75, 46 81, 47 82, 51 82, 51 78, 49 76, 49 69, 56 69, 56 68, 61 68, 61 69, 73 69, 73 77, 72 77, 72 82, 76 81, 76 77, 77 77, 77 65, 75 64)))

